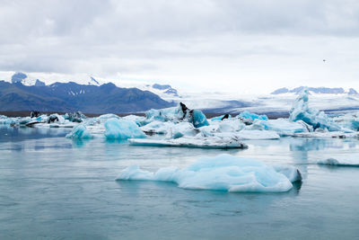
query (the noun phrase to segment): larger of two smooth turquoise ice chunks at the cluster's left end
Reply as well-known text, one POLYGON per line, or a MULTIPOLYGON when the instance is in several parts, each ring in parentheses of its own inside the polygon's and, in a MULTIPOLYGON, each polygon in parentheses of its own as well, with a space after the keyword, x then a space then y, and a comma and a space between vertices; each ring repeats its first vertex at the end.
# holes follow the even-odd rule
POLYGON ((130 120, 107 120, 105 129, 105 137, 108 139, 145 138, 144 132, 130 120))

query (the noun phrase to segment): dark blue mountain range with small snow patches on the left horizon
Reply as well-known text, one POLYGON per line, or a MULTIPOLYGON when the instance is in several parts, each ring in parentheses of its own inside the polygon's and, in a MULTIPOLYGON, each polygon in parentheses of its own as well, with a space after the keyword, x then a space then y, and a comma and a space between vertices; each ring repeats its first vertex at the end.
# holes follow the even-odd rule
POLYGON ((125 113, 171 107, 158 95, 115 84, 55 83, 46 85, 36 79, 23 84, 26 75, 17 73, 12 83, 0 81, 0 111, 83 111, 88 113, 125 113))

